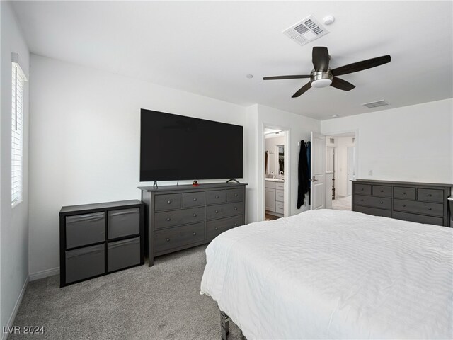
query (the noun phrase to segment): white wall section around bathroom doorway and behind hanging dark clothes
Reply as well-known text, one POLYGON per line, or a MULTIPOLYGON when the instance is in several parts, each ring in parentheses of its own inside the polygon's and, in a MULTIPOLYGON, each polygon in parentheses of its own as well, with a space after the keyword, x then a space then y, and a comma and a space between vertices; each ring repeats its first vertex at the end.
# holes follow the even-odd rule
MULTIPOLYGON (((287 111, 278 110, 256 104, 249 108, 248 111, 248 130, 253 129, 253 138, 256 142, 256 168, 252 169, 254 174, 248 176, 249 188, 256 200, 248 200, 249 215, 248 222, 264 220, 264 127, 281 128, 289 130, 289 145, 285 145, 285 154, 288 152, 289 171, 285 171, 285 191, 289 193, 289 203, 287 215, 295 215, 304 210, 309 210, 308 200, 305 204, 297 209, 297 167, 299 162, 299 145, 300 140, 310 140, 310 132, 319 132, 320 122, 312 118, 304 117, 287 111), (251 181, 253 179, 253 182, 251 181), (288 181, 289 179, 289 181, 288 181), (289 183, 289 184, 288 184, 289 183)), ((285 164, 286 166, 286 164, 285 164)))

